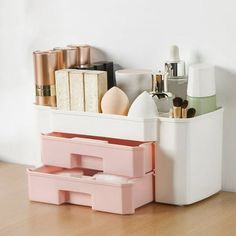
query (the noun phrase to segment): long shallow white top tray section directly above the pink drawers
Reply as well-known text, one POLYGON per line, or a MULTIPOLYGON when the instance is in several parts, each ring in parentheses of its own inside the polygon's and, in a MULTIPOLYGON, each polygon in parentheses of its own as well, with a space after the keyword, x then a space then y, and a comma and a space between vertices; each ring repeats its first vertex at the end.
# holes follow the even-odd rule
POLYGON ((130 118, 36 106, 41 133, 62 132, 136 141, 158 140, 158 118, 130 118))

